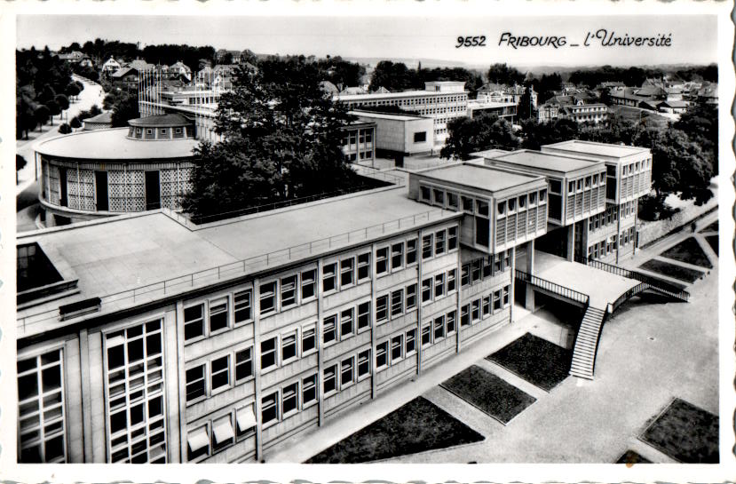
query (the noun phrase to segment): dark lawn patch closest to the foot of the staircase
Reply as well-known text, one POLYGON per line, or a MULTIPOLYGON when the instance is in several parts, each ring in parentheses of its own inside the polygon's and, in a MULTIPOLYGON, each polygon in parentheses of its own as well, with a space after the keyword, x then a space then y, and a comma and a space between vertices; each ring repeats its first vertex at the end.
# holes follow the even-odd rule
POLYGON ((569 375, 573 352, 526 333, 486 359, 549 392, 569 375))

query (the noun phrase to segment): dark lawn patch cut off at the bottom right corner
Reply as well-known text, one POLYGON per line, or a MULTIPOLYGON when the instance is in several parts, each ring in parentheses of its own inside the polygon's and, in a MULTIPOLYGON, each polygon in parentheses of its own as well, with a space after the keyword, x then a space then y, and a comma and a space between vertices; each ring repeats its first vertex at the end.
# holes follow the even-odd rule
POLYGON ((718 463, 718 417, 675 399, 639 437, 678 462, 718 463))

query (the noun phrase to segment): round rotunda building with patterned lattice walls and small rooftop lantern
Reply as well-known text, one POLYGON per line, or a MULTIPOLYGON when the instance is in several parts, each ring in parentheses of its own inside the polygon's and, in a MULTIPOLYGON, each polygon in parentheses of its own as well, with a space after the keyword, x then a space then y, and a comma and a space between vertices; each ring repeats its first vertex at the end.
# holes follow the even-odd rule
POLYGON ((179 114, 128 123, 128 128, 80 131, 36 145, 46 226, 179 208, 192 187, 194 123, 179 114))

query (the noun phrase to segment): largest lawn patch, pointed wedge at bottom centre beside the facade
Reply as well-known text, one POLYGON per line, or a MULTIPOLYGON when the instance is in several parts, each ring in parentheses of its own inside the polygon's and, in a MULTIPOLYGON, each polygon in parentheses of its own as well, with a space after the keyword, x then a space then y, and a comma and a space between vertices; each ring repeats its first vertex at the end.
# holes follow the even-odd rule
POLYGON ((356 464, 483 439, 481 434, 431 401, 417 397, 326 448, 305 464, 356 464))

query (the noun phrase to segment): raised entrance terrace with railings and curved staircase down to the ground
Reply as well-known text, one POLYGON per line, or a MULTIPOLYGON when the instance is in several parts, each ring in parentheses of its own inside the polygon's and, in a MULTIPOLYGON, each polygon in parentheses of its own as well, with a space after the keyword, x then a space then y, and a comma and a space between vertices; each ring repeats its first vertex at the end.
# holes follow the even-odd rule
POLYGON ((535 274, 517 270, 516 279, 531 284, 535 291, 585 308, 575 337, 570 375, 589 380, 593 379, 605 319, 621 304, 645 290, 654 290, 680 301, 690 298, 686 291, 665 282, 597 260, 570 262, 535 250, 534 269, 535 274))

